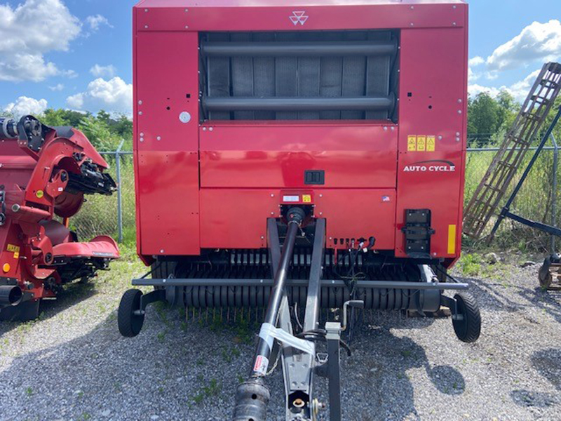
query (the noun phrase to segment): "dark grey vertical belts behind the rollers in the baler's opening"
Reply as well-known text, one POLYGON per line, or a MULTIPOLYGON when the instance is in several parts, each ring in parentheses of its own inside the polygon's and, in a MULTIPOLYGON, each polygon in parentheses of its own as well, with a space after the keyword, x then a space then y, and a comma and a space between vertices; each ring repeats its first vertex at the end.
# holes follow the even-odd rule
MULTIPOLYGON (((392 41, 396 31, 209 32, 201 42, 392 41)), ((396 93, 397 53, 367 57, 202 57, 203 98, 342 98, 396 93)), ((209 120, 395 119, 395 113, 367 110, 212 111, 209 120)))

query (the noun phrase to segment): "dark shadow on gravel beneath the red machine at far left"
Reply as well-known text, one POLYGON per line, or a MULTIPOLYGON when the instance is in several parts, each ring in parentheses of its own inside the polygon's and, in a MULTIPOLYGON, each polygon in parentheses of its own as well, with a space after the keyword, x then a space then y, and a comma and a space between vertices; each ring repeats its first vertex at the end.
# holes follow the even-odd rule
MULTIPOLYGON (((64 312, 84 300, 88 300, 88 298, 93 297, 95 294, 95 284, 93 282, 70 283, 65 286, 65 289, 58 295, 58 298, 54 300, 41 300, 41 305, 39 305, 39 319, 50 319, 56 314, 64 312)), ((18 328, 18 326, 22 326, 25 323, 34 323, 34 321, 0 321, 0 335, 18 328)))

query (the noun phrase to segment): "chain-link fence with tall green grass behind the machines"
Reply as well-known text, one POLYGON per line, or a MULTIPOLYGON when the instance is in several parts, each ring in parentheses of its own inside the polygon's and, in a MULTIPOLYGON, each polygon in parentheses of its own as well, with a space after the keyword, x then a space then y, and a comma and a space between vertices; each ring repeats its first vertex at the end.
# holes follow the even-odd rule
MULTIPOLYGON (((487 143, 486 140, 479 140, 478 142, 487 143)), ((476 144, 477 142, 470 142, 470 145, 476 144)), ((487 168, 489 168, 496 150, 496 148, 489 147, 471 147, 468 149, 466 205, 485 175, 487 168)), ((534 150, 530 150, 525 157, 517 177, 511 182, 511 189, 518 182, 534 150)), ((558 225, 561 215, 559 208, 556 206, 556 196, 559 193, 557 186, 560 185, 557 183, 556 154, 557 150, 554 147, 546 147, 543 150, 514 202, 511 209, 514 213, 539 222, 558 225)), ((133 152, 102 152, 102 155, 109 163, 111 177, 119 185, 119 193, 112 196, 86 196, 87 201, 83 204, 81 212, 70 220, 71 228, 77 232, 79 239, 83 240, 89 240, 96 235, 107 234, 119 239, 120 242, 134 243, 136 204, 133 152)), ((504 200, 506 200, 506 197, 504 200)), ((489 223, 489 229, 490 225, 492 223, 489 223)), ((555 248, 554 244, 552 246, 550 236, 508 219, 501 225, 495 241, 497 246, 505 250, 518 248, 520 250, 543 251, 555 248)), ((476 244, 469 239, 466 239, 466 243, 468 245, 476 244)))

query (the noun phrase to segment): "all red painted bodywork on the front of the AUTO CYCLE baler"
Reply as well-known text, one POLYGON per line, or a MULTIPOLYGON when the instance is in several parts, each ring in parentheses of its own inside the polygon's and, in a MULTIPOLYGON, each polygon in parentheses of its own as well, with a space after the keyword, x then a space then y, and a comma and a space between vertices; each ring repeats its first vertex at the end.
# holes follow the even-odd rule
POLYGON ((328 237, 374 235, 377 249, 398 256, 405 256, 405 209, 429 208, 431 253, 451 264, 461 245, 467 16, 461 1, 141 1, 133 18, 141 257, 264 247, 266 218, 278 215, 280 196, 290 191, 313 196, 328 237), (306 11, 306 23, 293 25, 292 11, 306 11), (318 29, 400 29, 397 125, 198 123, 199 31, 318 29), (190 123, 179 121, 181 111, 190 123), (442 138, 435 152, 408 152, 408 135, 442 138), (450 161, 456 171, 403 171, 421 161, 450 161), (304 186, 306 169, 325 170, 325 185, 304 186), (447 253, 449 225, 457 225, 454 254, 447 253))

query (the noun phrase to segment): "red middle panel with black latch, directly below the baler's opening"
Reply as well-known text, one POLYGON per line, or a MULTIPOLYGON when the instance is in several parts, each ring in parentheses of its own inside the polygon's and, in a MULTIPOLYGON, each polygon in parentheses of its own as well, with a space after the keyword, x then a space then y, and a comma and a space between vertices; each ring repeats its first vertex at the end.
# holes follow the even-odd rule
POLYGON ((201 187, 396 187, 397 129, 391 125, 289 123, 201 128, 201 187), (307 186, 312 187, 312 186, 307 186))

